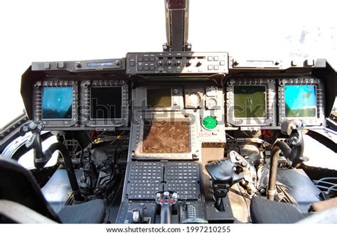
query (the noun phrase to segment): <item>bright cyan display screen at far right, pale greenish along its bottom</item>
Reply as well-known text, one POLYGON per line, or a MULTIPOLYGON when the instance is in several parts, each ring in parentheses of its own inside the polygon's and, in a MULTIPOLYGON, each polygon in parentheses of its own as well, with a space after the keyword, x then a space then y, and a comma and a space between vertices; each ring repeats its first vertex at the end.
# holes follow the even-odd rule
POLYGON ((317 97, 315 85, 285 85, 286 117, 315 117, 317 97))

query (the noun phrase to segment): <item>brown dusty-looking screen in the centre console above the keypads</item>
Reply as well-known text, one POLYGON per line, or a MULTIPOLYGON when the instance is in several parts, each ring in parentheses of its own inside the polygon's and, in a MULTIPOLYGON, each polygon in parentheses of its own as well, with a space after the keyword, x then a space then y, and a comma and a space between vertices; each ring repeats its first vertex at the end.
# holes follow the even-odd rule
POLYGON ((190 121, 147 121, 142 153, 189 153, 190 121))

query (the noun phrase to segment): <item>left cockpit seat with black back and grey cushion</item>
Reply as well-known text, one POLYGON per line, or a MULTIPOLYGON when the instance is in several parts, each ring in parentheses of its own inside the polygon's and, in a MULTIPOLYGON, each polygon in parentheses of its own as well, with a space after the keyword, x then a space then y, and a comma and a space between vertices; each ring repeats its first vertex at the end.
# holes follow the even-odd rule
POLYGON ((41 189, 31 172, 16 163, 16 161, 4 158, 1 155, 0 179, 0 200, 9 200, 22 204, 55 222, 98 224, 105 219, 104 200, 92 200, 67 206, 56 214, 45 197, 43 197, 41 189))

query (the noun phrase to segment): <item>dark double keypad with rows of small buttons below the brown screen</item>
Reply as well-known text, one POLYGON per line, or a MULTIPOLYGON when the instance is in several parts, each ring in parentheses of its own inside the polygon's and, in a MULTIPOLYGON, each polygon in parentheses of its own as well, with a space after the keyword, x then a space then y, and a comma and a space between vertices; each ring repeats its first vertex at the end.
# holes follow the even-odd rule
POLYGON ((127 181, 130 200, 154 200, 156 192, 178 192, 178 200, 198 200, 200 172, 193 162, 132 162, 127 181))

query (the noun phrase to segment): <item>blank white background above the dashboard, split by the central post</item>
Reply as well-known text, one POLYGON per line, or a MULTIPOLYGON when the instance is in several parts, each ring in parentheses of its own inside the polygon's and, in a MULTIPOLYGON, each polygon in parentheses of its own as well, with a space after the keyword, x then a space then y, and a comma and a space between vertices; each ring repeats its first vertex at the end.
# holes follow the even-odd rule
MULTIPOLYGON (((189 41, 194 51, 336 66, 334 2, 191 0, 189 41)), ((164 0, 0 1, 0 127, 23 110, 20 79, 31 62, 122 58, 165 42, 164 0)))

